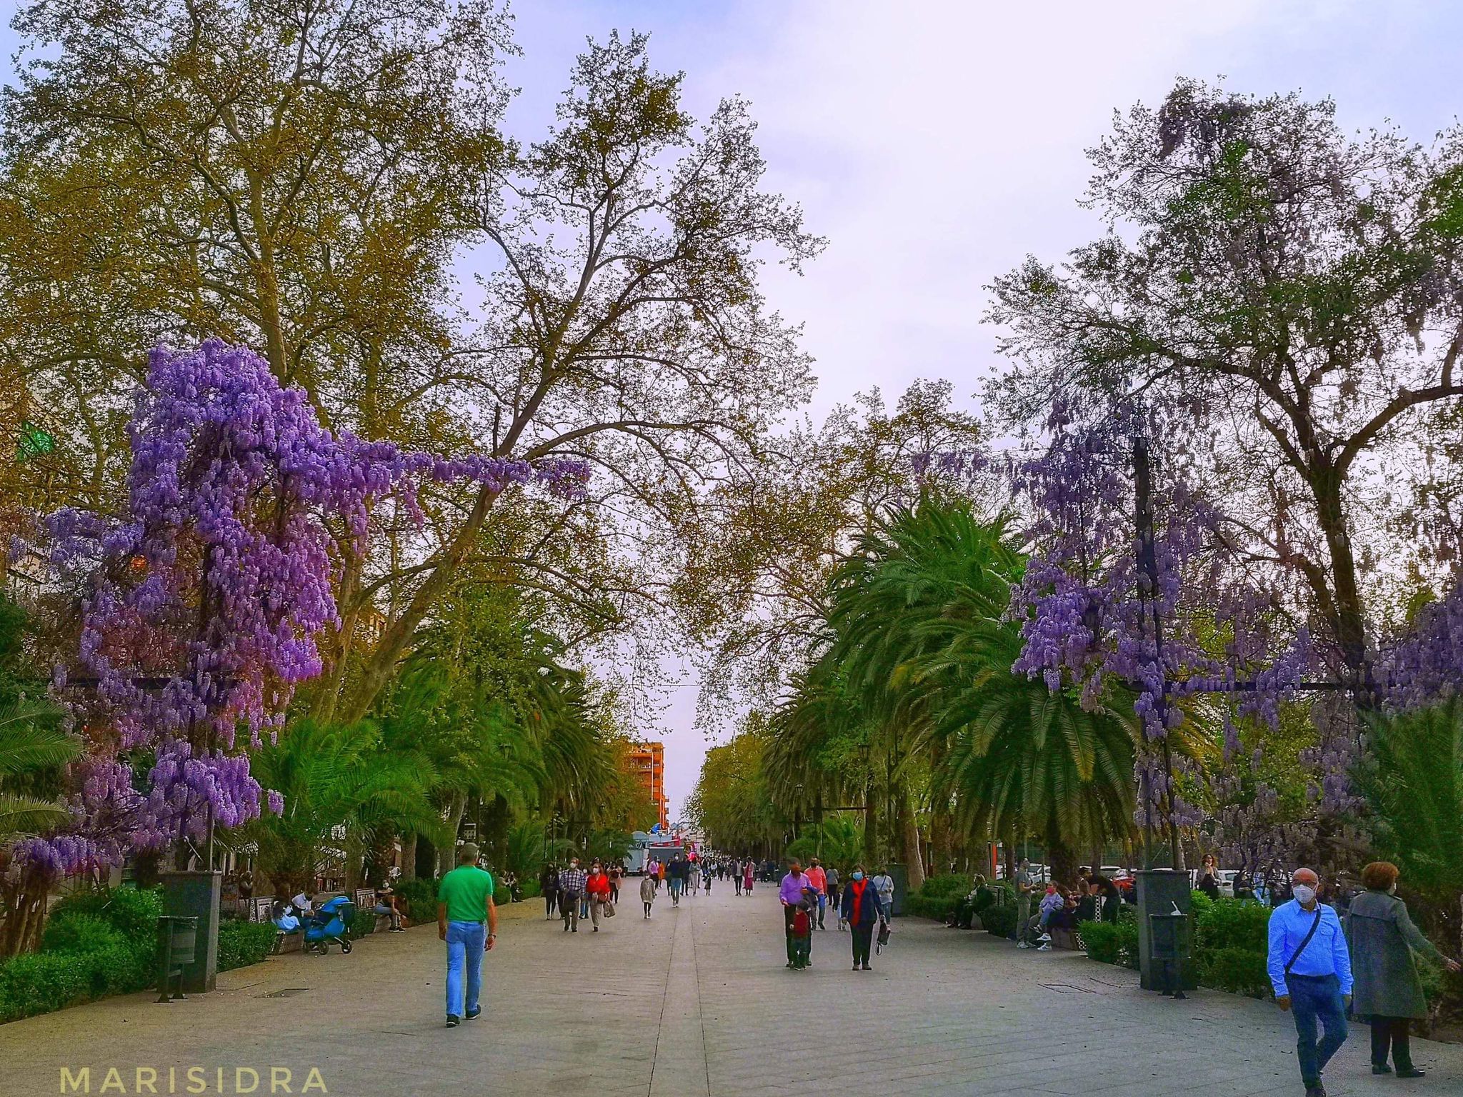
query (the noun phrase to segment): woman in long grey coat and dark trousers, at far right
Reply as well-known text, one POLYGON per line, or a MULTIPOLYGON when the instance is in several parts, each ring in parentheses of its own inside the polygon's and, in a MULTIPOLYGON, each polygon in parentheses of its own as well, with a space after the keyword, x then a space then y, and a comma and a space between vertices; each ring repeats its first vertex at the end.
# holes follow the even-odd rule
POLYGON ((1372 1074, 1390 1074, 1387 1050, 1399 1078, 1421 1078, 1407 1044, 1415 1017, 1426 1017, 1422 981, 1412 952, 1416 949, 1448 971, 1459 964, 1445 958, 1407 917, 1407 904, 1397 898, 1397 866, 1372 862, 1362 869, 1365 892, 1352 900, 1346 916, 1346 938, 1352 952, 1352 1012, 1372 1027, 1372 1074))

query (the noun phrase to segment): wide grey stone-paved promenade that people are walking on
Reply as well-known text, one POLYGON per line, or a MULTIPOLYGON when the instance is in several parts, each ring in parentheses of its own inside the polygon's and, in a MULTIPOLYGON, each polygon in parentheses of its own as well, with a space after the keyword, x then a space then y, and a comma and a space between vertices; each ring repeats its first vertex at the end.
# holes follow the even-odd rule
MULTIPOLYGON (((484 1015, 461 1028, 442 1027, 442 946, 423 926, 348 957, 275 957, 189 1002, 135 995, 3 1025, 0 1097, 60 1093, 61 1066, 89 1066, 94 1094, 148 1093, 139 1066, 159 1094, 170 1066, 180 1094, 189 1066, 206 1094, 240 1091, 236 1068, 268 1094, 272 1066, 293 1093, 316 1068, 341 1097, 1301 1093, 1293 1028, 1271 1003, 1172 1002, 1077 954, 920 920, 895 924, 873 971, 849 971, 832 929, 811 970, 787 971, 772 888, 739 898, 718 883, 679 910, 663 895, 647 923, 631 883, 600 933, 565 935, 537 901, 505 911, 484 1015), (110 1066, 124 1088, 102 1088, 110 1066)), ((1327 1071, 1336 1097, 1463 1094, 1463 1047, 1416 1041, 1429 1077, 1399 1082, 1369 1074, 1366 1036, 1356 1025, 1327 1071)))

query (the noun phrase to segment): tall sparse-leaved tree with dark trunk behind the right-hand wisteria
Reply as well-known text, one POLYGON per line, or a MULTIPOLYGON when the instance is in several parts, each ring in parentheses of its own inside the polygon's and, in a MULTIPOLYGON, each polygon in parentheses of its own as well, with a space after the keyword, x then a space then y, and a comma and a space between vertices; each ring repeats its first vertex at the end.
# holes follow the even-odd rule
MULTIPOLYGON (((1091 420, 1160 410, 1159 459, 1189 470, 1223 510, 1216 535, 1375 699, 1387 527, 1451 537, 1429 489, 1448 465, 1419 439, 1463 399, 1463 133, 1429 151, 1349 135, 1330 101, 1181 80, 1088 155, 1084 200, 1110 231, 996 279, 1017 364, 992 395, 1023 423, 1053 401, 1091 420)), ((1453 557, 1418 565, 1441 584, 1453 557)))

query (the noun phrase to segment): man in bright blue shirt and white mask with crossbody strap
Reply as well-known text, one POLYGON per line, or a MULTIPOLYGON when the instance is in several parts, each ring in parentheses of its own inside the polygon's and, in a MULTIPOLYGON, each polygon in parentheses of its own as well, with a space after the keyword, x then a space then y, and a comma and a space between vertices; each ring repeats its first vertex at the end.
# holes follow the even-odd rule
POLYGON ((1352 957, 1342 920, 1315 898, 1320 882, 1309 869, 1296 869, 1290 876, 1295 898, 1270 914, 1267 970, 1276 1005, 1295 1017, 1305 1097, 1325 1097, 1321 1071, 1346 1041, 1346 1011, 1352 1003, 1352 957), (1320 1041, 1317 1021, 1325 1030, 1320 1041))

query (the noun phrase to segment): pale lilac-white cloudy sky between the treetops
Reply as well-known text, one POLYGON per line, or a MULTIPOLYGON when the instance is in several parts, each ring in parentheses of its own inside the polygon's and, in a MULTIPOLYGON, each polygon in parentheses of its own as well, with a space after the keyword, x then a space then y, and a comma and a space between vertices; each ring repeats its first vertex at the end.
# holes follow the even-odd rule
MULTIPOLYGON (((0 0, 6 22, 13 9, 0 0)), ((585 38, 616 28, 651 34, 695 116, 751 102, 768 189, 828 237, 802 278, 764 281, 805 325, 813 414, 917 377, 949 377, 974 402, 1001 369, 982 287, 1097 234, 1077 205, 1083 151, 1113 110, 1157 104, 1179 76, 1328 97, 1347 127, 1390 118, 1421 142, 1463 111, 1456 0, 519 0, 514 13, 521 139, 552 123, 585 38)), ((13 53, 10 32, 0 48, 13 53)), ((686 682, 644 728, 666 743, 672 819, 707 749, 695 695, 686 682)))

